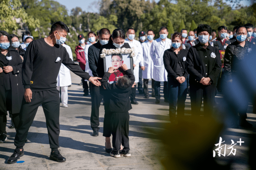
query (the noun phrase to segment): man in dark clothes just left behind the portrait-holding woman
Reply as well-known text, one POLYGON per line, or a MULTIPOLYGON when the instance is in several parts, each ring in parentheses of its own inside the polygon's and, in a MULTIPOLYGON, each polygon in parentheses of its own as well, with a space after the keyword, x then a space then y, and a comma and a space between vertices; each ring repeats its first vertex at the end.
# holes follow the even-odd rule
MULTIPOLYGON (((102 28, 99 31, 98 39, 99 41, 93 45, 91 45, 88 49, 88 62, 89 62, 89 67, 92 70, 92 75, 94 77, 98 77, 98 74, 96 72, 97 67, 98 67, 98 59, 100 56, 100 48, 102 45, 105 45, 108 43, 110 38, 110 31, 107 28, 102 28)), ((103 87, 100 86, 95 86, 92 84, 92 92, 91 92, 91 97, 92 97, 92 111, 91 111, 91 128, 92 128, 92 136, 96 137, 99 135, 99 108, 100 108, 100 103, 103 99, 103 87)))

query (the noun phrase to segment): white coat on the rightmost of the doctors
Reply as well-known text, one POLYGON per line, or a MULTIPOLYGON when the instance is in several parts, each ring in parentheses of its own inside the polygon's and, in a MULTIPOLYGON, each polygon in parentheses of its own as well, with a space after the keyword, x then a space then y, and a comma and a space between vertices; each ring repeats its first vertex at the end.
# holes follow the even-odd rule
POLYGON ((161 38, 156 39, 152 42, 150 48, 150 56, 154 63, 153 66, 153 79, 158 82, 167 81, 167 71, 164 68, 164 51, 170 49, 172 45, 172 40, 166 38, 165 41, 162 41, 161 38))

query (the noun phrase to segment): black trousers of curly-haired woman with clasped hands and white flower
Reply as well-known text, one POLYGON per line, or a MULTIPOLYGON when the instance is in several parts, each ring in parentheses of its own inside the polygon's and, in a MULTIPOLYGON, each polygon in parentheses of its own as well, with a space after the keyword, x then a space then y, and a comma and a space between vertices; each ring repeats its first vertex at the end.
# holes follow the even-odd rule
POLYGON ((213 112, 215 92, 216 84, 205 86, 200 83, 190 83, 190 100, 192 115, 200 116, 202 99, 204 98, 204 116, 211 116, 213 112))

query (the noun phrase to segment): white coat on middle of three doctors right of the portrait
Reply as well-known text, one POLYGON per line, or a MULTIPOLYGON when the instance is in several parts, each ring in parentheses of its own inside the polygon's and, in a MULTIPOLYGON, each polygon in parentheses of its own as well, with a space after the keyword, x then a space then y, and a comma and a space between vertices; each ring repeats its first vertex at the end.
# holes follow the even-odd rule
POLYGON ((141 44, 142 50, 143 50, 143 57, 142 57, 142 60, 140 61, 140 66, 142 65, 145 66, 145 70, 142 71, 142 78, 145 78, 145 79, 153 78, 154 64, 153 64, 152 58, 150 57, 150 47, 152 43, 150 43, 147 40, 141 44))

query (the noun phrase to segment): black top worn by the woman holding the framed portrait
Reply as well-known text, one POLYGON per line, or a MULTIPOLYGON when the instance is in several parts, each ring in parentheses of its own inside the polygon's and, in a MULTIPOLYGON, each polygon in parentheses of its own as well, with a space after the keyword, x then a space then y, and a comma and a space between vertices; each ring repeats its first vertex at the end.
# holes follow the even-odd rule
MULTIPOLYGON (((130 45, 128 43, 124 43, 124 45, 121 48, 126 48, 126 49, 130 49, 130 45)), ((97 74, 98 77, 102 78, 104 76, 104 59, 100 58, 100 55, 102 53, 102 49, 117 49, 112 41, 110 41, 108 44, 106 45, 102 45, 100 48, 100 54, 99 54, 99 58, 98 58, 98 66, 97 66, 97 74)))

